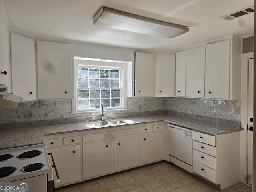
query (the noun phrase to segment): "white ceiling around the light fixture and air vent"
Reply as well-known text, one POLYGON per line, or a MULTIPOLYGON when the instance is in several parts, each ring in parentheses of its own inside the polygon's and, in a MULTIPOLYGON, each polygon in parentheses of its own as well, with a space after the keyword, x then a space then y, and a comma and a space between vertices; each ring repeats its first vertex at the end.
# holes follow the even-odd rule
POLYGON ((254 0, 4 0, 10 30, 34 38, 86 42, 173 52, 232 34, 253 34, 254 14, 231 21, 220 19, 254 0), (130 12, 189 27, 189 32, 167 39, 92 24, 102 7, 130 12))

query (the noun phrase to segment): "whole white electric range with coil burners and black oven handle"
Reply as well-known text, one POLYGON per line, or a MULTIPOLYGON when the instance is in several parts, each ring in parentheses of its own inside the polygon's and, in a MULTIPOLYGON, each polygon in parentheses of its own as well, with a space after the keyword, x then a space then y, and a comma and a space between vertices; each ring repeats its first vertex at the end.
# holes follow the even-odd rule
POLYGON ((31 192, 54 192, 48 155, 46 144, 0 150, 0 183, 26 182, 31 192))

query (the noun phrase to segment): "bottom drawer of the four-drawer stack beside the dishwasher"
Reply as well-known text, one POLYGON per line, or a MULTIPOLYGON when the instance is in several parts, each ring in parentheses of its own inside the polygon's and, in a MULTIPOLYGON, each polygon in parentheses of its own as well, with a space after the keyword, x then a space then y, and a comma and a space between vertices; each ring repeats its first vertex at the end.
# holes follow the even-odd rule
POLYGON ((193 172, 216 183, 216 171, 193 161, 193 172))

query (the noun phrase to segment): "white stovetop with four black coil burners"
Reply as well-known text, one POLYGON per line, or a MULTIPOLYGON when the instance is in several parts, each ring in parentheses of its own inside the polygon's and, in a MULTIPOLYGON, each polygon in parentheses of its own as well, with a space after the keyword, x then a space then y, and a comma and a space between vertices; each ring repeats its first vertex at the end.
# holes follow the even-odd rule
POLYGON ((13 182, 42 174, 47 174, 48 181, 53 179, 46 144, 0 150, 0 182, 13 182), (11 174, 8 176, 9 172, 11 174))

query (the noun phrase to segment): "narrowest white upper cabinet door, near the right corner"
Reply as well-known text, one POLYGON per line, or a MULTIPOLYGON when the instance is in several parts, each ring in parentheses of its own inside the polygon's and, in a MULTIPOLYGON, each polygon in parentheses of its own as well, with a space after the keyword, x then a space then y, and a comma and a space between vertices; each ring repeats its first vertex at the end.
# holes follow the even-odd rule
POLYGON ((186 51, 176 53, 175 96, 185 96, 186 91, 186 51))

